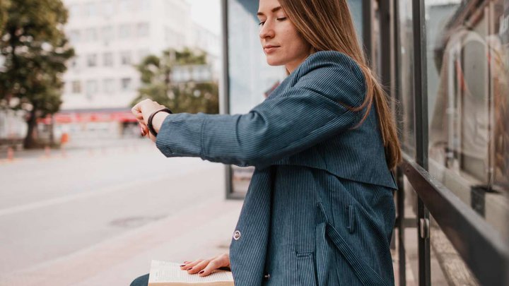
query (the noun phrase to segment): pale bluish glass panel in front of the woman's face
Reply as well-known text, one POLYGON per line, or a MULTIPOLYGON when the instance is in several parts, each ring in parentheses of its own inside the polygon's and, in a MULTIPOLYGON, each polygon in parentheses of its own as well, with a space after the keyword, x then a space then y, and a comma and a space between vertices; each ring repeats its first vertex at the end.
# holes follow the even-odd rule
MULTIPOLYGON (((269 66, 259 42, 258 1, 228 1, 228 95, 230 114, 247 113, 286 77, 269 66)), ((232 167, 232 191, 246 192, 252 168, 232 167)))

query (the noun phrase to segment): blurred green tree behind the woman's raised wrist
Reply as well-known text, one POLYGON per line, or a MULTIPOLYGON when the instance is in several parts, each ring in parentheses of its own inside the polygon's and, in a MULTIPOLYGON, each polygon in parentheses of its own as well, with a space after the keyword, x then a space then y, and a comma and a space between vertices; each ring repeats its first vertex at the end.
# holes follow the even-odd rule
POLYGON ((217 83, 195 83, 193 81, 174 83, 172 71, 175 66, 206 65, 206 55, 190 49, 176 51, 167 49, 158 57, 146 56, 136 68, 141 73, 141 88, 131 105, 150 98, 165 105, 173 112, 218 113, 219 92, 217 83))

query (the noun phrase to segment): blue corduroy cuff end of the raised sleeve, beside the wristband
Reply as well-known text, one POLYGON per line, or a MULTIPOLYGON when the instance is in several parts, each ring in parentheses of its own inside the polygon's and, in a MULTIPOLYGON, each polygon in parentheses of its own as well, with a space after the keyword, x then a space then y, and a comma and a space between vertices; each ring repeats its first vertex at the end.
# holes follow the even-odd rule
POLYGON ((201 157, 204 118, 189 115, 170 114, 161 124, 156 147, 166 157, 201 157))

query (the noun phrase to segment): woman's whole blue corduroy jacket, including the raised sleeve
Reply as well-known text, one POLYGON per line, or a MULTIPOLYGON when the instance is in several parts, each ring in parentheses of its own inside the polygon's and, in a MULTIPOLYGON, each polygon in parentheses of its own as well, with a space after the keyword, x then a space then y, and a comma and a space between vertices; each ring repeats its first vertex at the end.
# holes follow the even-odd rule
POLYGON ((230 244, 235 285, 393 285, 392 191, 363 73, 334 51, 308 56, 247 114, 170 114, 167 157, 254 166, 230 244), (365 109, 364 109, 365 111, 365 109))

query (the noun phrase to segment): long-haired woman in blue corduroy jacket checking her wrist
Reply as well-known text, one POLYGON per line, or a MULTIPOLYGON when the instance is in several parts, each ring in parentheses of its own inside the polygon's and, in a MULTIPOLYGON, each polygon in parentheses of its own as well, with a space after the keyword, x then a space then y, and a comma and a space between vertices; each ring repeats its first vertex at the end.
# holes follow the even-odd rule
POLYGON ((167 157, 255 167, 229 254, 182 270, 230 267, 235 285, 393 285, 390 169, 401 153, 346 1, 259 0, 258 18, 267 62, 288 77, 249 113, 133 107, 167 157))

